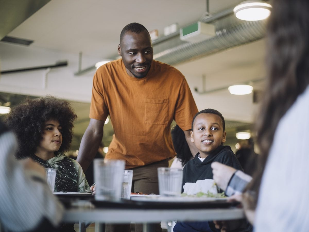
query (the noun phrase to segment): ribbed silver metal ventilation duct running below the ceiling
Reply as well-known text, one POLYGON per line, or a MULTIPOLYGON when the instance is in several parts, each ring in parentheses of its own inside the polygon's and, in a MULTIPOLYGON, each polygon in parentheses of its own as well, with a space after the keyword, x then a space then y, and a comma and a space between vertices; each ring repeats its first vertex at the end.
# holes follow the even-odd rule
POLYGON ((224 49, 259 40, 265 36, 265 20, 242 21, 229 15, 212 22, 216 36, 199 43, 181 41, 179 36, 154 45, 154 59, 175 65, 191 61, 224 49))

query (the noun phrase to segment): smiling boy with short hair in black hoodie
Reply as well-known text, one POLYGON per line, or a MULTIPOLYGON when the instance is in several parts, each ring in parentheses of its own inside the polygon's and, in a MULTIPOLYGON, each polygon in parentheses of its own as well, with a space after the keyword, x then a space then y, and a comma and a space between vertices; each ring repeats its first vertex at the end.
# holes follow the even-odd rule
MULTIPOLYGON (((220 112, 206 109, 198 112, 192 122, 191 142, 199 152, 183 169, 183 192, 188 195, 210 191, 217 193, 214 186, 211 163, 218 161, 237 170, 243 170, 230 146, 223 146, 226 140, 225 121, 220 112)), ((233 231, 251 231, 246 222, 239 223, 233 231), (243 224, 240 226, 240 224, 243 224), (238 226, 237 226, 238 227, 238 226), (241 228, 243 227, 243 228, 241 228)), ((250 226, 249 226, 250 227, 250 226)), ((220 231, 211 221, 177 222, 173 231, 212 232, 220 231)))

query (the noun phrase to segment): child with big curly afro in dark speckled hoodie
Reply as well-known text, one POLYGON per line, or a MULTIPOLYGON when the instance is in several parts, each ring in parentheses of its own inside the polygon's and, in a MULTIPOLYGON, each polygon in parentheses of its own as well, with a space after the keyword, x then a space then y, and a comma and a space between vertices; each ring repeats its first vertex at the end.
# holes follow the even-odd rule
POLYGON ((90 191, 82 167, 64 155, 76 118, 70 103, 55 97, 26 99, 6 117, 6 125, 17 136, 17 158, 30 157, 45 168, 57 169, 56 192, 90 191))

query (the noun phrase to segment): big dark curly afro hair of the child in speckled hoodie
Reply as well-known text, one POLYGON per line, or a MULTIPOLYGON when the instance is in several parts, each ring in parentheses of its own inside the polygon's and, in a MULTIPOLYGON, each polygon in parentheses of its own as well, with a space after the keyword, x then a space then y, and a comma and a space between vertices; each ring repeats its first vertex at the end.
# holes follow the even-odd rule
POLYGON ((77 118, 69 102, 55 97, 26 99, 12 108, 6 116, 6 125, 15 132, 18 140, 16 157, 24 158, 34 154, 43 140, 45 122, 58 120, 61 127, 62 144, 55 155, 70 149, 73 136, 73 122, 77 118))

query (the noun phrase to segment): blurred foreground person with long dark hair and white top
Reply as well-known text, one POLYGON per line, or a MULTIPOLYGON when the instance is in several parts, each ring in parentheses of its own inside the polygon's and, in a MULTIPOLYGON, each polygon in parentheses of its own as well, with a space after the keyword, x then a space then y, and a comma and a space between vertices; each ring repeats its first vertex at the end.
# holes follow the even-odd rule
POLYGON ((273 0, 272 6, 268 78, 256 121, 259 162, 235 198, 256 232, 308 231, 309 1, 273 0))

